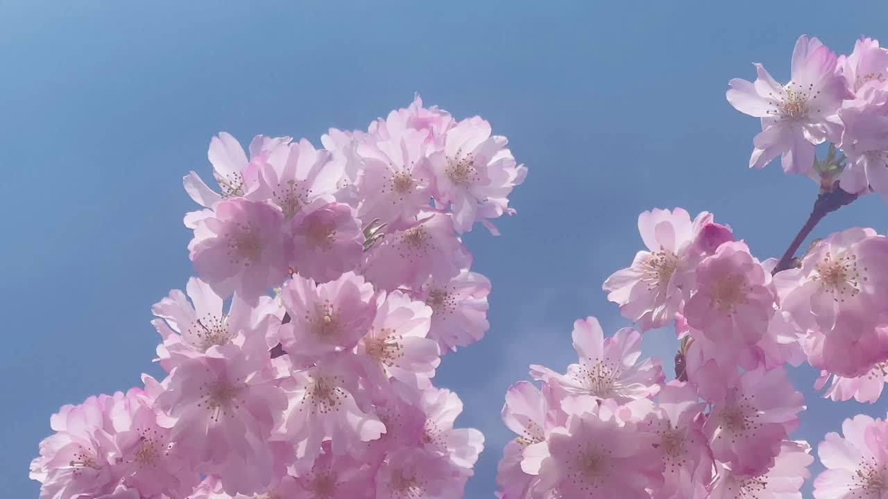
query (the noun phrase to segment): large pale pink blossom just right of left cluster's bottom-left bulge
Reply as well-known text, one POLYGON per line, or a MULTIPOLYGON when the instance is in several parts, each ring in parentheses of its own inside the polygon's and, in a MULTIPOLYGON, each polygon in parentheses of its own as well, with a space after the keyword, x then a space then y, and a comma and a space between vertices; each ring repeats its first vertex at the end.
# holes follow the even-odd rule
POLYGON ((171 418, 170 439, 200 471, 218 472, 228 493, 254 493, 273 479, 267 440, 287 398, 270 376, 267 352, 219 353, 178 360, 156 405, 171 418))

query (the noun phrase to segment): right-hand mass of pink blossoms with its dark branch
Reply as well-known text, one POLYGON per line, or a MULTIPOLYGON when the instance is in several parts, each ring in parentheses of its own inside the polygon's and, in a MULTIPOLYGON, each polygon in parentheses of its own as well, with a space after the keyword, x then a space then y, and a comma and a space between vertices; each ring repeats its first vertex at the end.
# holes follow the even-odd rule
MULTIPOLYGON (((733 80, 727 92, 762 118, 751 166, 782 154, 785 170, 816 178, 812 219, 788 257, 763 261, 710 213, 642 213, 646 249, 603 286, 637 330, 605 337, 594 318, 576 321, 578 362, 565 374, 531 366, 539 385, 507 392, 503 421, 519 437, 499 465, 502 499, 800 499, 814 457, 791 439, 805 405, 786 366, 820 368, 816 387, 829 382, 832 400, 879 398, 888 237, 851 228, 793 257, 830 210, 870 191, 888 197, 888 51, 862 39, 836 57, 803 36, 791 82, 757 69, 756 83, 733 80), (670 325, 680 347, 666 382, 658 361, 639 359, 640 342, 670 325)), ((888 422, 856 416, 843 434, 818 448, 827 471, 815 499, 888 497, 888 422)))

